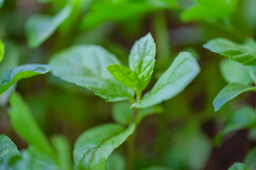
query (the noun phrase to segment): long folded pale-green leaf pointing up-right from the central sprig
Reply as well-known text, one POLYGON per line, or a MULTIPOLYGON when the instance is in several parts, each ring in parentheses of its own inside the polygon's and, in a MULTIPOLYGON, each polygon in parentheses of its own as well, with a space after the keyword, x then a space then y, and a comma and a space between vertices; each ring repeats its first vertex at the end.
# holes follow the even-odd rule
POLYGON ((132 107, 145 108, 169 100, 182 92, 200 72, 200 66, 189 52, 180 52, 150 92, 132 107))

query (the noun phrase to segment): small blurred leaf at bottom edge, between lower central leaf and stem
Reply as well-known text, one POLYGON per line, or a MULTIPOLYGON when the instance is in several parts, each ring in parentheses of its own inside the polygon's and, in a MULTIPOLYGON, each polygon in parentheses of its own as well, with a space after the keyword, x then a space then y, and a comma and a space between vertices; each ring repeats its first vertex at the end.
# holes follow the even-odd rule
POLYGON ((126 170, 126 159, 118 152, 112 152, 107 161, 108 170, 126 170))

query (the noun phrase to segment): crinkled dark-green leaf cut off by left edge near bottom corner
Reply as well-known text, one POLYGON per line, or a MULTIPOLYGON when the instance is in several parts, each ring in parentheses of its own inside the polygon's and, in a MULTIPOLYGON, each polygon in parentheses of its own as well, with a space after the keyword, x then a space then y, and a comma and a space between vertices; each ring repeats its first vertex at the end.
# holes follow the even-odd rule
POLYGON ((0 135, 0 164, 12 164, 20 157, 20 152, 11 139, 5 135, 0 135))

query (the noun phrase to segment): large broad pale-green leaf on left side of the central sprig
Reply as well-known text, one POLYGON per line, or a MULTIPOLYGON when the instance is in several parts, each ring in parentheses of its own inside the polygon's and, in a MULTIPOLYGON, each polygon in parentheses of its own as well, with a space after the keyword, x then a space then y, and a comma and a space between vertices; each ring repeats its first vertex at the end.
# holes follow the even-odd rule
POLYGON ((107 71, 108 65, 120 62, 115 55, 100 46, 74 46, 53 55, 49 63, 54 76, 85 87, 109 102, 134 96, 132 89, 118 82, 107 71))

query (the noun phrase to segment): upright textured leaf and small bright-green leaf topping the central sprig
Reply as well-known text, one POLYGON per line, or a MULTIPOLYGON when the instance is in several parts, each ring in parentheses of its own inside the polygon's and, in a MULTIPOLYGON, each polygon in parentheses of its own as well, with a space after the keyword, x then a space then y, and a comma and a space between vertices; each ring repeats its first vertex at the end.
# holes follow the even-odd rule
POLYGON ((134 43, 129 54, 129 68, 123 65, 109 65, 113 77, 137 92, 148 85, 154 72, 156 44, 150 33, 134 43))

